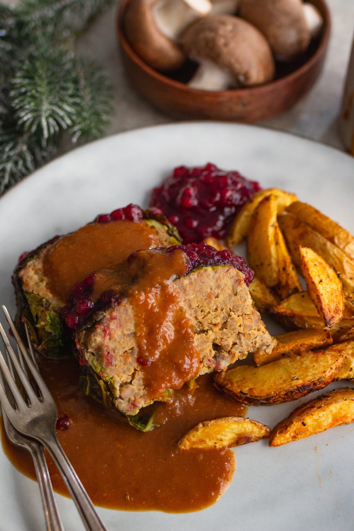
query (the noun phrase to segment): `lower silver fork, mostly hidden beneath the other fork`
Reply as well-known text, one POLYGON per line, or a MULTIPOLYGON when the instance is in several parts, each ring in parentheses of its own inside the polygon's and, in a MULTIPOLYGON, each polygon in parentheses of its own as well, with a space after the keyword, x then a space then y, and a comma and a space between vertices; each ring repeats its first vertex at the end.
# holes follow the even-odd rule
MULTIPOLYGON (((26 328, 26 333, 28 333, 27 328, 26 328)), ((5 352, 7 354, 7 349, 5 349, 5 352)), ((18 354, 19 354, 19 358, 21 361, 20 350, 18 354)), ((34 357, 32 348, 30 348, 30 354, 33 359, 33 363, 36 364, 36 358, 34 357)), ((13 373, 12 364, 11 362, 9 362, 8 356, 6 357, 7 357, 8 367, 14 378, 15 375, 13 373)), ((24 367, 24 364, 23 364, 23 367, 24 367)), ((0 371, 0 383, 4 384, 1 371, 0 371)), ((27 450, 32 457, 34 470, 36 471, 38 486, 39 486, 39 490, 41 494, 44 514, 45 514, 45 519, 46 519, 46 526, 47 526, 48 531, 64 531, 63 524, 59 516, 57 504, 55 501, 53 486, 51 485, 49 471, 48 471, 45 453, 44 453, 44 448, 42 444, 40 444, 37 441, 34 441, 33 439, 28 439, 27 437, 19 433, 17 430, 15 430, 11 422, 8 420, 7 415, 4 411, 3 411, 3 423, 4 423, 4 428, 5 428, 7 438, 13 444, 15 444, 15 446, 18 446, 20 448, 27 450)))

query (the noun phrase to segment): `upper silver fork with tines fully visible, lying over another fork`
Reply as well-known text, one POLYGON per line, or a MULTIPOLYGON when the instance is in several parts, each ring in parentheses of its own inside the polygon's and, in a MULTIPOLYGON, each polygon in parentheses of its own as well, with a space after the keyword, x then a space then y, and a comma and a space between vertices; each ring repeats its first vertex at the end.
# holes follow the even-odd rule
POLYGON ((80 513, 81 519, 85 528, 88 531, 107 531, 105 524, 103 524, 98 512, 93 506, 89 495, 85 491, 80 479, 77 477, 75 470, 70 464, 70 461, 65 455, 65 452, 56 436, 55 424, 57 420, 57 409, 53 397, 50 395, 44 380, 42 379, 36 365, 34 365, 27 348, 24 346, 22 339, 16 330, 14 323, 10 317, 5 306, 3 310, 8 324, 13 332, 15 340, 21 350, 27 368, 36 382, 40 391, 40 397, 34 391, 27 374, 23 371, 21 364, 8 340, 5 330, 0 323, 0 334, 3 338, 5 348, 10 355, 11 361, 14 365, 16 373, 19 376, 23 389, 28 397, 26 402, 21 392, 19 391, 15 380, 13 379, 10 370, 5 362, 5 359, 0 352, 0 369, 3 372, 4 379, 12 396, 15 400, 15 408, 12 407, 7 398, 5 389, 0 383, 0 402, 8 419, 13 424, 16 430, 25 436, 36 439, 47 448, 50 456, 53 458, 59 472, 61 473, 68 491, 70 492, 77 510, 80 513))

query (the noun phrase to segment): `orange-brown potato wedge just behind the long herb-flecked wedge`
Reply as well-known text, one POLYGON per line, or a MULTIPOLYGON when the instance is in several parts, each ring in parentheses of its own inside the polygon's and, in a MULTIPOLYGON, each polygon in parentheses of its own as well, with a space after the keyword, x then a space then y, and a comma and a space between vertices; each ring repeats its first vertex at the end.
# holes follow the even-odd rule
POLYGON ((301 355, 307 350, 327 347, 333 342, 329 330, 295 330, 274 336, 274 338, 277 344, 272 352, 265 353, 256 350, 253 353, 253 359, 258 367, 282 357, 291 357, 293 354, 301 355))

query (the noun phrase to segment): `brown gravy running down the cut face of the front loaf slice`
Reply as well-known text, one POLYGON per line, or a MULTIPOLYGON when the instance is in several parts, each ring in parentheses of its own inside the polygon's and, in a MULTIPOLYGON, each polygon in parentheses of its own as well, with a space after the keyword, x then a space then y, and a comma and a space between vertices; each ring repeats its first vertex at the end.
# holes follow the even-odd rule
POLYGON ((191 320, 174 280, 187 271, 180 250, 139 251, 117 269, 101 270, 94 279, 93 300, 106 290, 128 297, 133 307, 137 363, 148 398, 163 397, 166 389, 179 389, 200 368, 191 320))

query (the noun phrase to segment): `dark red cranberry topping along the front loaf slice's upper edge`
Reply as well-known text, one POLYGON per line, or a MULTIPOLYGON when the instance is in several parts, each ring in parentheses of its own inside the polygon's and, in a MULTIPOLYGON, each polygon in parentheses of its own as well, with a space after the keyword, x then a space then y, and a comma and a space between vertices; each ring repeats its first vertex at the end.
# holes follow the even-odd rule
MULTIPOLYGON (((147 252, 150 253, 173 253, 177 250, 183 251, 188 259, 186 265, 186 272, 191 272, 193 269, 199 267, 208 267, 211 265, 231 265, 238 269, 245 275, 246 285, 251 284, 254 273, 248 267, 246 262, 240 256, 236 256, 227 250, 217 251, 214 247, 206 245, 205 243, 188 244, 188 245, 174 245, 171 247, 154 249, 147 252)), ((127 258, 127 263, 135 260, 137 253, 133 253, 127 258)), ((119 268, 124 265, 120 264, 119 268)), ((108 271, 107 271, 108 272, 108 271)), ((114 274, 115 272, 112 271, 114 274)), ((69 328, 81 327, 87 318, 94 312, 105 309, 114 298, 116 301, 120 299, 120 295, 113 290, 103 292, 97 299, 93 297, 94 282, 99 272, 91 273, 82 282, 76 282, 73 291, 68 299, 68 303, 63 307, 61 315, 69 328), (94 302, 93 302, 94 299, 94 302)))

